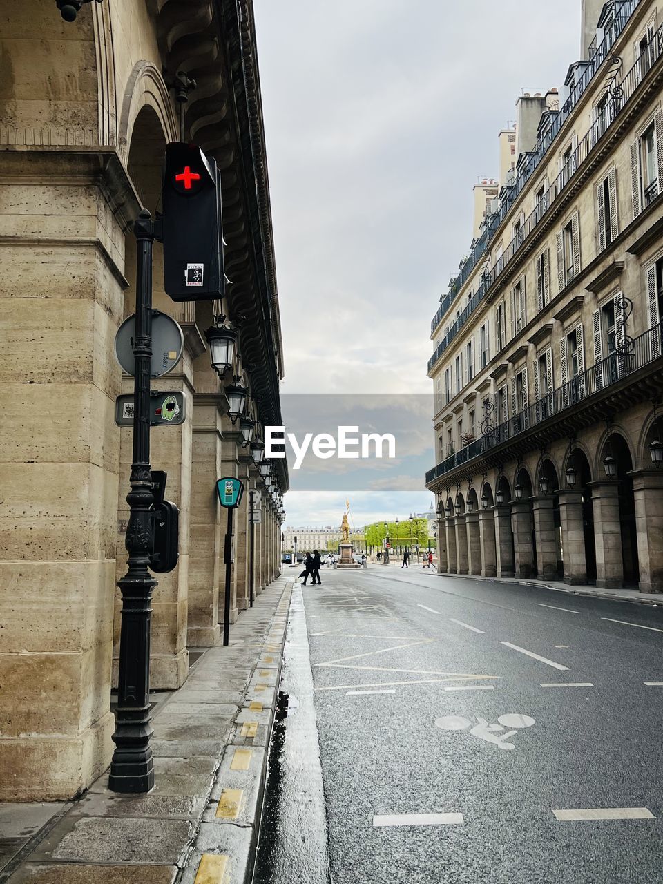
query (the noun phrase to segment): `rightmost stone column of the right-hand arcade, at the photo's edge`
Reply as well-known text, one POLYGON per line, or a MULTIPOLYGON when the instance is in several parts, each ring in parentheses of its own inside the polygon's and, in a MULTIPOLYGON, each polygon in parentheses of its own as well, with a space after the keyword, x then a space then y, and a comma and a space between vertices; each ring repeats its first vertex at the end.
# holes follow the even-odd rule
POLYGON ((631 473, 636 499, 637 561, 641 592, 663 592, 663 472, 631 473))

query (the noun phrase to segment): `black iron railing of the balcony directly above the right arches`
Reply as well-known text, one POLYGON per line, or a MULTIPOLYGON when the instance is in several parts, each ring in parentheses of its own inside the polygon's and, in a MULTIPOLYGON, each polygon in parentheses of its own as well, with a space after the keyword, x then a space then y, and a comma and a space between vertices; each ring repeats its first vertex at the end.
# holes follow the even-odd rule
POLYGON ((450 472, 461 464, 467 463, 492 448, 513 439, 520 433, 560 415, 567 408, 578 402, 590 399, 596 393, 616 384, 622 378, 641 369, 649 362, 654 362, 661 355, 663 340, 663 324, 655 325, 636 339, 622 339, 621 349, 597 362, 591 369, 572 377, 566 384, 547 393, 541 399, 513 415, 497 426, 484 425, 484 435, 471 442, 469 446, 447 457, 437 467, 426 473, 426 484, 431 484, 440 476, 450 472))

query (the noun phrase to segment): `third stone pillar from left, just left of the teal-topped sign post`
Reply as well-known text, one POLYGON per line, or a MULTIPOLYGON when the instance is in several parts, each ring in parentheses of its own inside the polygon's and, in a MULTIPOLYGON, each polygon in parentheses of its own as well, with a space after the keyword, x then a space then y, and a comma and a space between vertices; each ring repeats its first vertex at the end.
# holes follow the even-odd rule
POLYGON ((219 639, 222 558, 222 509, 216 492, 221 477, 218 396, 194 396, 193 423, 187 644, 190 648, 209 648, 219 639))

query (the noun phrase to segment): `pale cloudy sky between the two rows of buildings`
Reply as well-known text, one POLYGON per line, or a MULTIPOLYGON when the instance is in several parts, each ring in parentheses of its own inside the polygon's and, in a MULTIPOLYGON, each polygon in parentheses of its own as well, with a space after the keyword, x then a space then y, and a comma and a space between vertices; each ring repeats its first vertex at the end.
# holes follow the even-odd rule
MULTIPOLYGON (((472 186, 497 174, 522 90, 563 82, 580 6, 255 0, 285 394, 430 394, 431 317, 469 250, 472 186)), ((398 468, 393 492, 292 486, 296 524, 339 523, 347 496, 356 524, 431 500, 423 476, 399 491, 398 468)))

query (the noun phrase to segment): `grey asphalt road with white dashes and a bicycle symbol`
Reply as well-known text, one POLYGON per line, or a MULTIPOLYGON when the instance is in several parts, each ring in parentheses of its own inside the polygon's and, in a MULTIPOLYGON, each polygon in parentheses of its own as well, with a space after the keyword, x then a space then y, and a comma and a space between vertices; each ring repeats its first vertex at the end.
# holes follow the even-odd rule
POLYGON ((322 579, 334 882, 663 881, 663 609, 415 567, 322 579))

